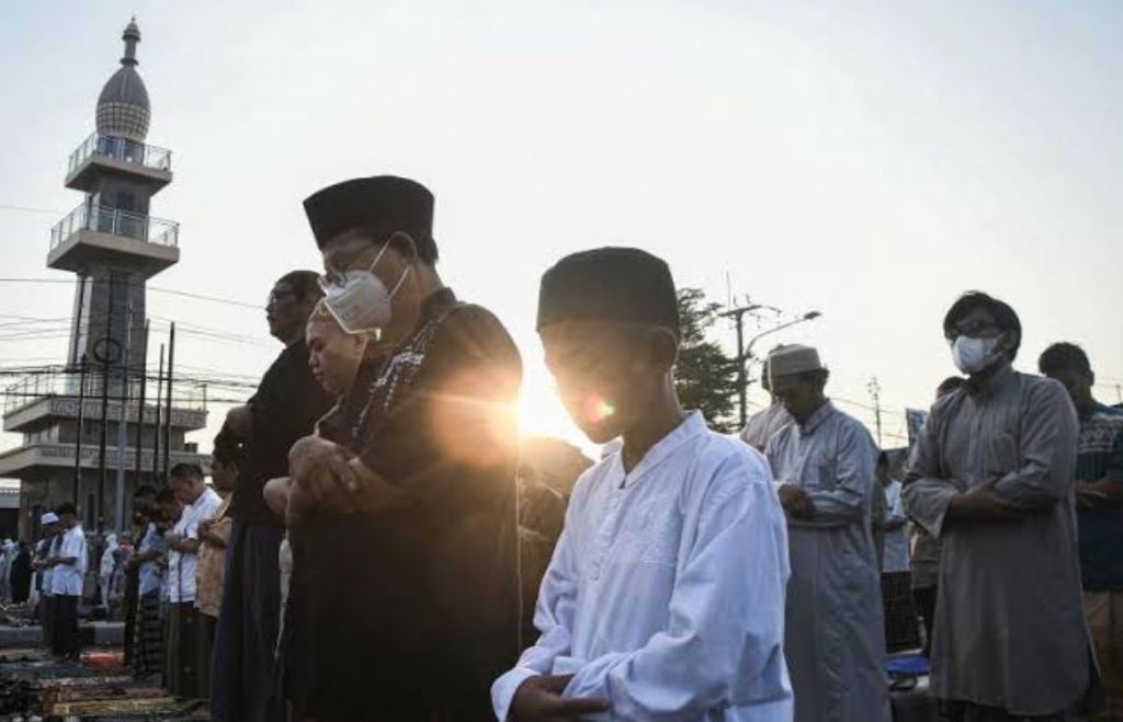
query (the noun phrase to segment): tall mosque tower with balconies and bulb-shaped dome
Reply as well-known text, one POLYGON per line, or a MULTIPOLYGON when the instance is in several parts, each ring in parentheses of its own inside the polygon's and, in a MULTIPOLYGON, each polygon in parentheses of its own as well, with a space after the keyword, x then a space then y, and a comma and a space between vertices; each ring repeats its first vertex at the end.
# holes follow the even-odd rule
POLYGON ((77 281, 67 357, 4 391, 3 428, 24 439, 0 453, 0 476, 20 480, 19 530, 28 538, 39 515, 63 501, 75 503, 90 531, 128 528, 131 491, 162 483, 165 457, 209 466, 185 441, 206 426, 204 388, 176 380, 173 408, 157 413, 165 399, 148 381, 139 408, 146 365, 155 365, 146 359, 145 286, 180 260, 180 226, 150 213, 172 182, 172 152, 147 145, 152 107, 137 73, 135 18, 121 39, 121 66, 98 96, 97 130, 66 167, 66 187, 84 198, 51 230, 47 266, 77 281))

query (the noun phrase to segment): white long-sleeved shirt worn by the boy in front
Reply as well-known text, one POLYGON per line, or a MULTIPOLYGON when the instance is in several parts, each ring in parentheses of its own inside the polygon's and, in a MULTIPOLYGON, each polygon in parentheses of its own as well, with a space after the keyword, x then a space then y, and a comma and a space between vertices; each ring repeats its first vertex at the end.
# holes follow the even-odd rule
POLYGON ((694 413, 626 474, 574 490, 538 595, 542 632, 492 686, 508 719, 528 677, 573 674, 590 719, 787 722, 787 538, 764 457, 694 413))

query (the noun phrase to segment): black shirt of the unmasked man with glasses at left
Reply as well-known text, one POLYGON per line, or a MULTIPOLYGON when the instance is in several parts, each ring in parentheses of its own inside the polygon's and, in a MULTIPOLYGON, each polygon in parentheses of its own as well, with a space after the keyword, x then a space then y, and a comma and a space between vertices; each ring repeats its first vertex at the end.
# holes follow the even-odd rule
POLYGON ((238 464, 238 485, 230 502, 234 519, 250 525, 281 526, 262 491, 270 479, 289 475, 289 450, 312 433, 316 420, 331 408, 332 398, 308 368, 308 345, 287 346, 262 377, 249 399, 253 429, 238 464))

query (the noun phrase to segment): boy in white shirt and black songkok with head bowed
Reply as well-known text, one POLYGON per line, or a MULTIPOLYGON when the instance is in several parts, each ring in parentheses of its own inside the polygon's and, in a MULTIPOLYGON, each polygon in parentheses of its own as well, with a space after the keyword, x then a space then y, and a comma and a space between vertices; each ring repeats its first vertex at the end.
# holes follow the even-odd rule
POLYGON ((577 482, 541 637, 493 685, 497 719, 791 720, 783 512, 760 454, 679 406, 666 263, 567 257, 542 278, 538 327, 570 416, 623 445, 577 482))

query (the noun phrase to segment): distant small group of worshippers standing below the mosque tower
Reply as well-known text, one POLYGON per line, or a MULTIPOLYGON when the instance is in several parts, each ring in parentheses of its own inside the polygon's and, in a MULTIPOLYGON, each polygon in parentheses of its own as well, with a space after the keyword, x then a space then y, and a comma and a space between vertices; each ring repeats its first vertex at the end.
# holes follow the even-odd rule
POLYGON ((107 535, 101 549, 90 548, 72 503, 43 515, 29 586, 54 657, 81 659, 79 609, 91 598, 91 557, 100 558, 93 601, 103 618, 125 621, 125 661, 138 677, 158 676, 174 694, 208 696, 230 526, 223 496, 232 483, 220 461, 211 484, 197 464, 176 464, 166 488, 136 490, 135 530, 120 540, 107 535))

